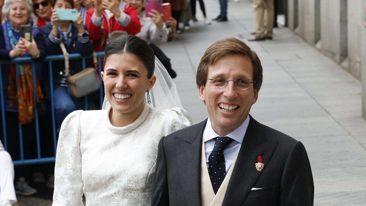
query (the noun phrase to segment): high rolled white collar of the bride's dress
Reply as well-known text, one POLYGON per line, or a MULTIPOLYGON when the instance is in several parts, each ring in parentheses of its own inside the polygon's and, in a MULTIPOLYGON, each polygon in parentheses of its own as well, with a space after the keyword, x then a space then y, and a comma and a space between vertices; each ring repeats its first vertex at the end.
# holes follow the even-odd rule
POLYGON ((107 118, 106 119, 107 126, 108 126, 108 129, 111 130, 112 133, 117 134, 117 135, 131 132, 133 129, 140 126, 142 124, 142 122, 145 121, 147 114, 149 114, 149 111, 150 111, 150 107, 145 104, 145 106, 143 107, 142 113, 134 122, 132 122, 131 124, 129 124, 127 126, 117 127, 117 126, 113 126, 111 124, 111 120, 109 119, 109 112, 111 112, 111 109, 112 109, 112 107, 109 106, 107 109, 107 112, 105 113, 105 117, 107 118))

